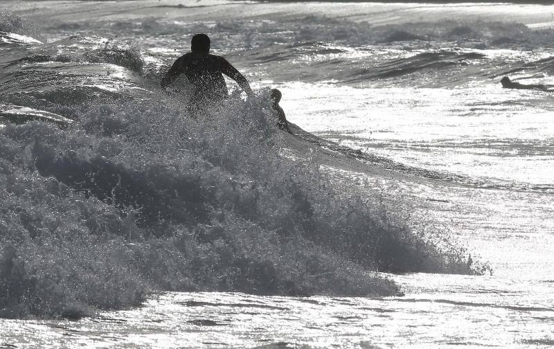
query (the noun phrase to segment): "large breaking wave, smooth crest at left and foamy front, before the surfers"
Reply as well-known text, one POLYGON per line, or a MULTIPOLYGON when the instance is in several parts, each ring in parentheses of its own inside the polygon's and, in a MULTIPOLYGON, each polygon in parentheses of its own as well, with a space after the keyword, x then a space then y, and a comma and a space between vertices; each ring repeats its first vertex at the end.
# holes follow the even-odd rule
POLYGON ((145 62, 84 37, 0 45, 1 316, 78 317, 154 290, 385 296, 400 290, 375 271, 481 271, 285 154, 267 91, 190 118, 145 62))

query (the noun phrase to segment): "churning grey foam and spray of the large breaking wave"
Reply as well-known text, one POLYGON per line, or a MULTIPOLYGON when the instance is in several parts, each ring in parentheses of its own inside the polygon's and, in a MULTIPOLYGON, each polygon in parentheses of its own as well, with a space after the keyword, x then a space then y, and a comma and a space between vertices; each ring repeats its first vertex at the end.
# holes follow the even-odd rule
MULTIPOLYGON (((122 109, 116 114, 125 115, 122 109)), ((434 265, 442 257, 432 246, 411 245, 417 239, 409 229, 387 226, 361 202, 341 202, 325 189, 332 186, 323 188, 325 177, 314 164, 283 163, 279 148, 267 140, 256 143, 264 156, 252 156, 254 145, 247 141, 208 136, 217 132, 211 124, 202 127, 199 139, 193 124, 187 144, 204 148, 190 147, 188 159, 181 158, 186 148, 171 152, 179 159, 160 150, 170 166, 159 163, 155 149, 137 149, 136 140, 146 135, 134 128, 111 160, 87 156, 105 147, 111 136, 103 130, 83 137, 77 129, 64 132, 37 122, 3 130, 6 312, 87 314, 90 307, 132 305, 153 289, 391 294, 397 290, 390 282, 361 273, 449 271, 434 265), (216 156, 211 147, 220 142, 237 147, 234 159, 216 156), (62 149, 68 145, 74 149, 62 149), (271 156, 279 166, 256 167, 267 166, 271 156), (107 174, 118 181, 98 181, 107 174), (187 177, 195 180, 186 184, 187 177)), ((276 134, 269 127, 264 131, 276 134)), ((157 133, 147 129, 150 143, 157 133)), ((265 139, 255 129, 251 134, 265 139)), ((469 271, 463 265, 456 260, 450 267, 469 271)))

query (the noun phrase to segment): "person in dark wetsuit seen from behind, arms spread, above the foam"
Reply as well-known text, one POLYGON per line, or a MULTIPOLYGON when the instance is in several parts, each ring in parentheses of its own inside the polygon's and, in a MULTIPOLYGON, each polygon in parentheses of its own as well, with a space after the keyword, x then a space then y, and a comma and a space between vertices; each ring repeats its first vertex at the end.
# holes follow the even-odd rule
POLYGON ((194 85, 195 91, 188 102, 193 113, 221 102, 229 97, 229 90, 222 74, 235 80, 239 86, 253 96, 248 80, 244 78, 224 57, 210 54, 210 38, 206 34, 197 34, 190 41, 190 51, 179 57, 161 79, 160 86, 166 89, 177 76, 185 74, 194 85))

